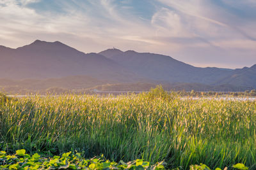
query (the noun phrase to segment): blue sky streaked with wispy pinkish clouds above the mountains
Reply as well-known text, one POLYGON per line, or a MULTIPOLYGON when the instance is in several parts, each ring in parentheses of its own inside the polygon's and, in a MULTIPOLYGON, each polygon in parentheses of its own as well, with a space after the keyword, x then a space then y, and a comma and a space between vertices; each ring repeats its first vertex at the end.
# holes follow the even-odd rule
POLYGON ((0 0, 0 45, 61 41, 170 55, 200 67, 256 64, 256 0, 0 0))

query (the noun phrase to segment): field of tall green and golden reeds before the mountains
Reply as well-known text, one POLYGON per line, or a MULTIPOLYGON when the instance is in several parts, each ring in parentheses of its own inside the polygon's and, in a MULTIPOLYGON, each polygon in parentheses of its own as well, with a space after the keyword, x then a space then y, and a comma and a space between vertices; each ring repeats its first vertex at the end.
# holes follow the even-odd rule
POLYGON ((163 89, 126 97, 2 99, 0 150, 164 160, 166 168, 256 169, 256 101, 184 100, 163 89))

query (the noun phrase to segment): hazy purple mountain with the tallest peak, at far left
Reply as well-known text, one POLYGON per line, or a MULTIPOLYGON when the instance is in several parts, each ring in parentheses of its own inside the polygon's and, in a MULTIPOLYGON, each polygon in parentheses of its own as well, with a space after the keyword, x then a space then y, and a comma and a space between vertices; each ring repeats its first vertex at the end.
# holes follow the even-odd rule
POLYGON ((116 81, 138 79, 134 73, 103 55, 79 52, 59 41, 36 40, 17 49, 0 48, 0 78, 42 79, 77 75, 116 81))

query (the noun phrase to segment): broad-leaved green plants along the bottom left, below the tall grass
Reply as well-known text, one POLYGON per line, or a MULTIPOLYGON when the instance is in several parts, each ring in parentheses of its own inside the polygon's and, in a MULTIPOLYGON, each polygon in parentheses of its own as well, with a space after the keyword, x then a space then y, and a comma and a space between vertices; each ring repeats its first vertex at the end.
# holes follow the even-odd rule
POLYGON ((52 158, 41 157, 38 153, 26 154, 26 150, 17 150, 15 155, 0 152, 0 169, 164 169, 163 162, 151 165, 142 159, 131 162, 111 162, 99 158, 84 159, 81 153, 63 153, 52 158))

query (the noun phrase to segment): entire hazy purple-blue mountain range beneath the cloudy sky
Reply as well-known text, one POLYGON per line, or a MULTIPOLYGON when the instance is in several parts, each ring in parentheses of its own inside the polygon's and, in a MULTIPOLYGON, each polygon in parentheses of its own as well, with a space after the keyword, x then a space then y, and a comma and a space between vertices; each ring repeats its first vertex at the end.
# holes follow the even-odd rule
POLYGON ((161 83, 176 90, 250 90, 256 89, 256 64, 243 69, 194 67, 170 56, 132 50, 83 53, 59 41, 36 40, 16 49, 0 46, 0 87, 5 89, 74 90, 108 84, 140 90, 135 88, 138 82, 146 89, 161 83))

